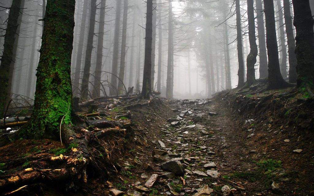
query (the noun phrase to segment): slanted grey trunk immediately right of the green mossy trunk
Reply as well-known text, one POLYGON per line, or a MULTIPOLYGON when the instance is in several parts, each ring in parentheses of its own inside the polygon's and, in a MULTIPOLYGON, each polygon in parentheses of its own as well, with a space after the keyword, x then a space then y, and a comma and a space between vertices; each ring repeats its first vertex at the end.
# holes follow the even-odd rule
POLYGON ((86 15, 87 15, 87 8, 88 8, 88 1, 83 1, 83 2, 84 2, 83 14, 82 14, 81 28, 79 31, 78 52, 76 56, 76 66, 75 66, 75 72, 74 72, 73 88, 74 88, 75 96, 80 96, 79 82, 80 82, 80 77, 81 77, 82 56, 83 56, 84 37, 85 37, 85 24, 86 24, 86 15))

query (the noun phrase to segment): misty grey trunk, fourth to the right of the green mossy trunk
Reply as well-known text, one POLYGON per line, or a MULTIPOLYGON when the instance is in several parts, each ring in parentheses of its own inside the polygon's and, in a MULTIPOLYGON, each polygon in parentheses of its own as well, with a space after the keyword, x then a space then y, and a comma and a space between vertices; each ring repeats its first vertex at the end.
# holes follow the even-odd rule
POLYGON ((111 66, 111 79, 110 79, 110 95, 116 94, 117 90, 117 75, 118 71, 118 53, 119 53, 119 28, 120 28, 120 15, 121 15, 121 0, 116 0, 116 20, 115 20, 115 33, 113 38, 113 53, 112 53, 112 66, 111 66))

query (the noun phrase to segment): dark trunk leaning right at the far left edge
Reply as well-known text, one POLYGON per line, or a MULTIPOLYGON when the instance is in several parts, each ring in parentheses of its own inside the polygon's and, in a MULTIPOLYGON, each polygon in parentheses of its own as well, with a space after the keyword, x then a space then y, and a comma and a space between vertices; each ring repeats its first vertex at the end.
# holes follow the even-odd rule
POLYGON ((0 64, 0 89, 2 91, 0 96, 0 118, 3 118, 6 107, 6 100, 8 98, 8 81, 10 73, 11 61, 15 58, 13 56, 14 42, 16 30, 19 26, 19 12, 21 7, 21 0, 13 0, 8 17, 8 24, 4 36, 3 54, 0 64))

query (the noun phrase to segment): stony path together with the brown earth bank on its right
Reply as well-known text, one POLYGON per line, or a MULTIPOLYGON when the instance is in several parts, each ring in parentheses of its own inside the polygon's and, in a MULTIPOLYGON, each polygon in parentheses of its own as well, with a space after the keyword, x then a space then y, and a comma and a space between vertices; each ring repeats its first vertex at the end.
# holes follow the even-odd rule
MULTIPOLYGON (((115 156, 120 171, 73 195, 314 195, 313 103, 289 90, 130 109, 134 133, 115 156)), ((1 157, 8 148, 20 146, 0 148, 1 157)))

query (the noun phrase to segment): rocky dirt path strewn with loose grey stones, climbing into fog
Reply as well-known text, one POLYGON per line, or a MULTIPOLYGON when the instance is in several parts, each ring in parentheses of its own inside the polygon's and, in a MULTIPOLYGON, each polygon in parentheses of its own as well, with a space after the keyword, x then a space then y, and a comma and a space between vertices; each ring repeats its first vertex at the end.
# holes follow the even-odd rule
MULTIPOLYGON (((237 132, 236 122, 219 103, 184 100, 169 113, 171 118, 164 115, 155 122, 147 120, 156 124, 156 135, 143 134, 147 148, 134 148, 135 156, 121 160, 121 175, 115 182, 107 181, 111 195, 279 193, 278 184, 267 176, 271 173, 251 172, 258 165, 251 157, 256 152, 244 144, 249 136, 233 134, 237 132)), ((265 165, 268 169, 268 162, 259 166, 265 165)), ((277 166, 272 165, 283 173, 277 166)))

